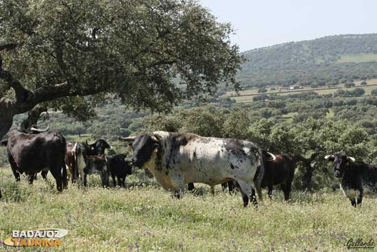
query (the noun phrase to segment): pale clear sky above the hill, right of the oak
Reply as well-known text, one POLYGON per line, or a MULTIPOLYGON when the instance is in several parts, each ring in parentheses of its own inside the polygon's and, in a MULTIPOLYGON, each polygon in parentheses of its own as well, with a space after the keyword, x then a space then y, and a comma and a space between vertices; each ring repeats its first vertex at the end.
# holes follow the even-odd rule
POLYGON ((236 31, 241 51, 339 34, 377 33, 377 0, 199 0, 236 31))

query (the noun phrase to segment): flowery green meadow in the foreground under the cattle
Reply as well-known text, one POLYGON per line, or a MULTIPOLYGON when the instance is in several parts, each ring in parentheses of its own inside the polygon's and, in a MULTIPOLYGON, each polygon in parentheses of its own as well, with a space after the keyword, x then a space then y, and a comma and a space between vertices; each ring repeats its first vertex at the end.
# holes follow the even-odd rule
MULTIPOLYGON (((132 175, 129 185, 138 179, 132 175)), ((89 182, 57 194, 51 177, 30 187, 0 169, 1 240, 14 229, 69 230, 60 249, 0 244, 0 251, 349 251, 350 238, 377 240, 377 198, 354 209, 340 192, 293 192, 291 203, 276 192, 273 201, 243 209, 241 196, 220 187, 215 196, 203 186, 177 200, 154 179, 126 190, 95 186, 97 176, 89 182)))

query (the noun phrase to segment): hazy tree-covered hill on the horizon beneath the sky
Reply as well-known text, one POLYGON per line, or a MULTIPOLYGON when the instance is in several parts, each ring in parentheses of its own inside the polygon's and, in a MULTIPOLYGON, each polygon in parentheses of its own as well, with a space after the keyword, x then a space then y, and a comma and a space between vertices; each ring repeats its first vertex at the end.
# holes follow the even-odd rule
POLYGON ((326 36, 245 51, 245 87, 334 84, 377 78, 377 34, 326 36))

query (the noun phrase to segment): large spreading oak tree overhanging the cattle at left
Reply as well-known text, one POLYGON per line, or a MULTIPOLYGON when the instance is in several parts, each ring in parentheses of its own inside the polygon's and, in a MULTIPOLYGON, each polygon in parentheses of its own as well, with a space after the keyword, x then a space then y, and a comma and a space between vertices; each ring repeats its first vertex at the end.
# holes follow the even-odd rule
POLYGON ((0 138, 38 104, 84 120, 106 94, 169 111, 238 87, 232 28, 196 1, 4 0, 0 16, 0 138))

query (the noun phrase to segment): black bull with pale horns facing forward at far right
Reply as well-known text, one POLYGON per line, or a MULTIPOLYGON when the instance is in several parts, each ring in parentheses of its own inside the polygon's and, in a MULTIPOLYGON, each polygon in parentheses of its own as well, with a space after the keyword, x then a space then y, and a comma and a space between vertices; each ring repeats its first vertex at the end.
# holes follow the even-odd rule
POLYGON ((364 193, 377 192, 377 165, 356 161, 343 153, 327 155, 325 159, 334 163, 334 176, 352 206, 361 205, 364 193))

